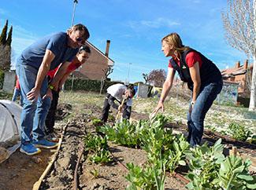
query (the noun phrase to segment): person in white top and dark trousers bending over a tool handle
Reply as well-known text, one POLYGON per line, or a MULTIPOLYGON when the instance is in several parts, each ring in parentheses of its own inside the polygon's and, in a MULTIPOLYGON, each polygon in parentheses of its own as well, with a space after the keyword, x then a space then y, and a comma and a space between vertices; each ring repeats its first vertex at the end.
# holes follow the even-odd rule
POLYGON ((123 84, 115 84, 113 86, 109 86, 106 93, 106 99, 104 103, 104 107, 102 110, 102 122, 105 123, 109 116, 109 108, 112 106, 116 108, 118 111, 123 111, 123 118, 130 119, 132 113, 132 97, 135 95, 135 89, 133 86, 124 86, 123 84), (117 105, 114 101, 117 101, 119 104, 124 100, 124 105, 117 105))

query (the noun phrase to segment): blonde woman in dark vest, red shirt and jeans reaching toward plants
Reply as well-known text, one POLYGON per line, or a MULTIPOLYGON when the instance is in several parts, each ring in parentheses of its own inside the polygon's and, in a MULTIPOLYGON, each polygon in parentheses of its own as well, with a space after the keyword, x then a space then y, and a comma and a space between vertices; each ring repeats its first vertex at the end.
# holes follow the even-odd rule
POLYGON ((213 104, 217 94, 221 92, 223 81, 221 72, 215 64, 195 49, 184 46, 177 33, 171 33, 161 39, 161 51, 165 57, 172 57, 169 60, 168 75, 163 85, 161 97, 157 108, 165 111, 164 100, 171 87, 175 72, 178 71, 180 79, 187 82, 187 87, 192 91, 190 106, 187 111, 187 141, 191 148, 199 145, 202 139, 203 122, 207 111, 213 104))

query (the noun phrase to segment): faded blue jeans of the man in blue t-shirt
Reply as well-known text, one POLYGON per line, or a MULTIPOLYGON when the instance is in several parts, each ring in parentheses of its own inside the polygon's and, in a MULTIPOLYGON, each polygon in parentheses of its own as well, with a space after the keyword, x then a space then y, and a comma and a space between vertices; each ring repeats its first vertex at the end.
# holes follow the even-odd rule
POLYGON ((42 99, 47 90, 47 79, 45 77, 40 89, 40 95, 32 103, 32 100, 28 100, 27 93, 35 86, 38 70, 32 66, 18 63, 16 72, 20 81, 21 96, 24 99, 20 119, 20 131, 21 144, 25 145, 32 143, 32 137, 35 141, 39 141, 45 136, 43 133, 43 124, 50 108, 50 97, 46 97, 44 100, 42 99))

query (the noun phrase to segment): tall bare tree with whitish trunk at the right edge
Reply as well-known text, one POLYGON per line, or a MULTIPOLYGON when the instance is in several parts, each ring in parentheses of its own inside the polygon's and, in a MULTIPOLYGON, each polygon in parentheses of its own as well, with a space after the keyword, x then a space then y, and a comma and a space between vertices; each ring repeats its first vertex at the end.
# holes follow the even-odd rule
POLYGON ((256 0, 228 0, 228 10, 221 12, 224 35, 229 46, 254 60, 250 86, 249 111, 256 106, 256 0))

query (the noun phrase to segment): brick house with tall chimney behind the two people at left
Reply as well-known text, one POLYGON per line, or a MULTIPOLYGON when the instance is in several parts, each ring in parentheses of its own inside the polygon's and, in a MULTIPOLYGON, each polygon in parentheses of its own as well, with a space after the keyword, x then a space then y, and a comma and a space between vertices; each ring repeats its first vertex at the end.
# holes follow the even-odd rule
POLYGON ((102 53, 98 48, 93 46, 90 42, 86 42, 87 46, 91 48, 91 56, 85 64, 73 72, 74 77, 83 79, 104 79, 105 75, 103 69, 113 67, 114 61, 109 58, 109 44, 110 40, 106 41, 106 53, 102 53))

